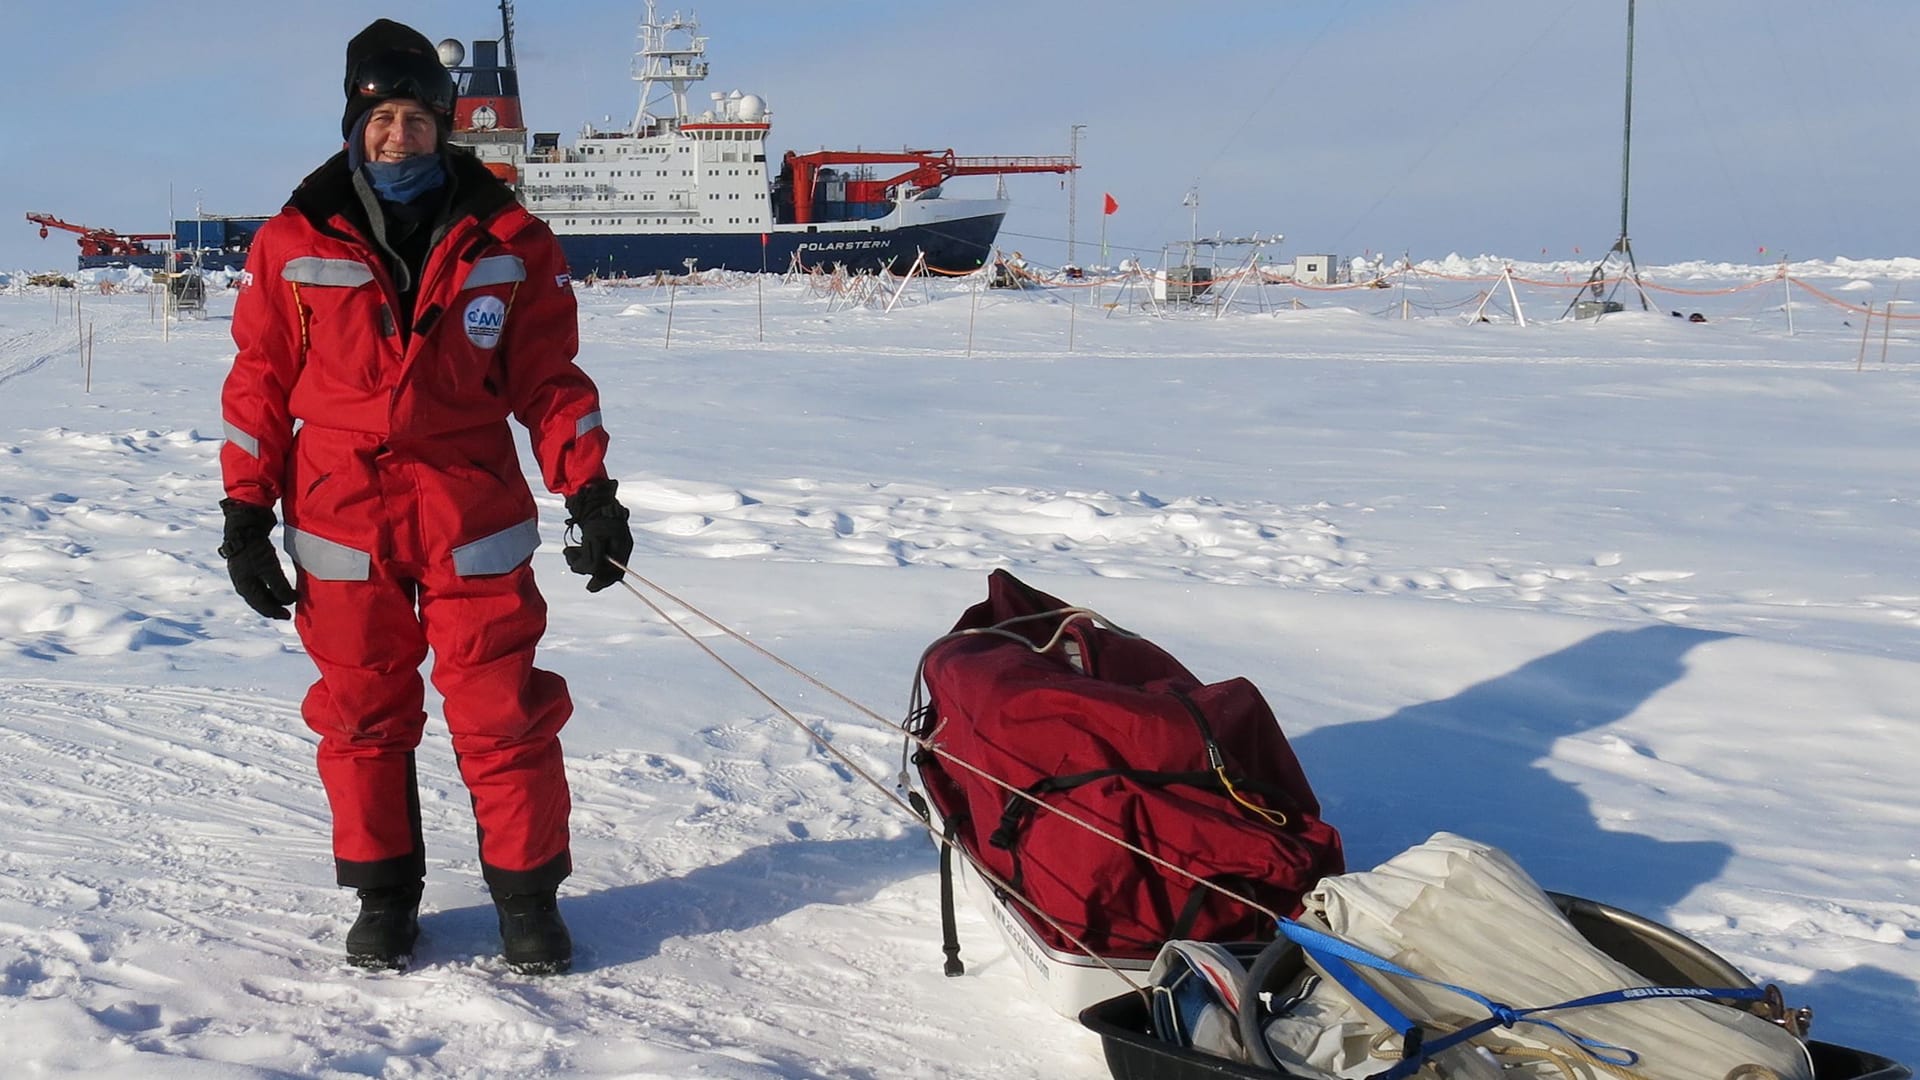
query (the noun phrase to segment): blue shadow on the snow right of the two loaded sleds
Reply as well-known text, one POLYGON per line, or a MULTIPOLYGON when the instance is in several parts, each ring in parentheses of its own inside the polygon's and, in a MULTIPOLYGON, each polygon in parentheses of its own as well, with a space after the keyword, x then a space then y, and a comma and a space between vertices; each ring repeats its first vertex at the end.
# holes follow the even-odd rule
MULTIPOLYGON (((1732 847, 1603 828, 1548 759, 1557 740, 1620 721, 1678 682, 1688 651, 1730 636, 1667 625, 1605 630, 1452 698, 1308 732, 1294 749, 1352 869, 1448 830, 1509 851, 1542 888, 1665 919, 1720 876, 1732 847)), ((1920 1057, 1910 1034, 1920 988, 1905 976, 1855 967, 1784 990, 1814 1007, 1816 1038, 1920 1057)))

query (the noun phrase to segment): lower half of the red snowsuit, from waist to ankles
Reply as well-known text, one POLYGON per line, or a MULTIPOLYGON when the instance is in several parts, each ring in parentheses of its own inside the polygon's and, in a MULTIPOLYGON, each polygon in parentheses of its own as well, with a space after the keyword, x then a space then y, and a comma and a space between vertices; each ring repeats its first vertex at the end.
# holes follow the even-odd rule
POLYGON ((294 626, 321 671, 301 713, 321 736, 338 882, 424 876, 413 759, 432 651, 488 886, 559 886, 572 871, 559 740, 572 700, 559 675, 534 667, 547 628, 528 565, 538 511, 505 425, 413 448, 309 425, 292 480, 294 626), (515 467, 499 467, 503 452, 515 467))

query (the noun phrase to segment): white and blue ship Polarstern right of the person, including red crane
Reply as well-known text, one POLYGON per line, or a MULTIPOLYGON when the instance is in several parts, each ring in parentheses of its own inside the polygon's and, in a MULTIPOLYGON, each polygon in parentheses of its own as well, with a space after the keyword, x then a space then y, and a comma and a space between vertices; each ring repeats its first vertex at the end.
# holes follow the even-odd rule
POLYGON ((515 184, 547 221, 574 277, 651 277, 687 269, 787 271, 845 265, 906 271, 979 269, 1008 200, 956 198, 954 177, 1068 173, 1071 158, 962 158, 952 150, 787 152, 768 167, 772 110, 758 94, 710 92, 693 113, 687 90, 707 79, 707 38, 647 0, 634 79, 639 108, 618 129, 588 125, 563 146, 528 133, 513 61, 513 0, 501 38, 453 38, 440 58, 459 102, 453 142, 515 184), (470 60, 470 61, 468 61, 470 60))

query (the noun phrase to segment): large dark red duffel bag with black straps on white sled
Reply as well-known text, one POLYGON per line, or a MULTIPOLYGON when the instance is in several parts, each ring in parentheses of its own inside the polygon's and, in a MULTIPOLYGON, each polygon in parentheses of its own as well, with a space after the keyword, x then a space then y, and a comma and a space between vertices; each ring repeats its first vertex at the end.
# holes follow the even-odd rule
MULTIPOLYGON (((1254 907, 1110 838, 1281 915, 1344 869, 1340 834, 1246 678, 1202 684, 1160 646, 1006 571, 927 648, 920 676, 910 730, 933 749, 908 744, 918 786, 987 880, 1081 940, 1002 896, 1048 949, 1150 961, 1171 938, 1273 938, 1254 907)), ((950 880, 941 892, 952 974, 950 880)))

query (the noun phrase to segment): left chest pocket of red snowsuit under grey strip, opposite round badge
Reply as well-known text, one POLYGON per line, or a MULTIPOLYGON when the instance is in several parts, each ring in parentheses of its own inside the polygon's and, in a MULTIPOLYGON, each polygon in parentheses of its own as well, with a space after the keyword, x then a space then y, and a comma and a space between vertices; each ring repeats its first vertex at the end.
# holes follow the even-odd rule
POLYGON ((300 311, 300 352, 307 371, 357 390, 380 384, 382 338, 392 315, 372 267, 359 259, 303 256, 280 271, 300 311))

